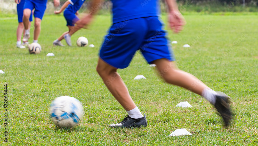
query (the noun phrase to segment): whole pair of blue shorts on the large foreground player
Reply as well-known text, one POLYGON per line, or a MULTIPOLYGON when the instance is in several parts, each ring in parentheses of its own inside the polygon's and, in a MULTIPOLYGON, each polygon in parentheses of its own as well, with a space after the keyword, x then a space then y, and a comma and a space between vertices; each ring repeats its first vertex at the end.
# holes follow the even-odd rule
POLYGON ((110 27, 100 49, 100 58, 111 66, 124 69, 140 50, 149 64, 166 58, 175 61, 170 41, 165 37, 159 17, 143 17, 118 22, 110 27))

